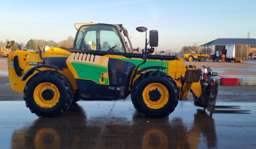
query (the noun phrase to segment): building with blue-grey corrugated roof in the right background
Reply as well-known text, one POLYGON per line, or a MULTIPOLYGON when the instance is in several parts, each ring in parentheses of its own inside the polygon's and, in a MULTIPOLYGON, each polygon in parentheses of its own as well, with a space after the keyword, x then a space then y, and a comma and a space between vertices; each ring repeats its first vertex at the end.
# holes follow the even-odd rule
POLYGON ((215 54, 215 51, 222 51, 230 44, 248 44, 249 56, 256 54, 256 39, 254 38, 218 38, 209 43, 201 45, 202 53, 215 54))

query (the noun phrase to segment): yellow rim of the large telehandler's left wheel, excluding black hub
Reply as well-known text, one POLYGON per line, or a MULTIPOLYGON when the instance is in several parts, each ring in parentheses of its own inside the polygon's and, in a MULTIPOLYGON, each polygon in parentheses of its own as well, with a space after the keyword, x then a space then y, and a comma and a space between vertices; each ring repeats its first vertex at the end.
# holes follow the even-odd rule
POLYGON ((34 100, 38 104, 38 106, 41 106, 43 108, 51 108, 55 106, 58 103, 59 98, 60 92, 58 88, 52 83, 41 83, 34 90, 34 100), (43 92, 46 90, 51 90, 51 92, 53 92, 53 96, 51 99, 46 100, 45 98, 43 98, 43 92))

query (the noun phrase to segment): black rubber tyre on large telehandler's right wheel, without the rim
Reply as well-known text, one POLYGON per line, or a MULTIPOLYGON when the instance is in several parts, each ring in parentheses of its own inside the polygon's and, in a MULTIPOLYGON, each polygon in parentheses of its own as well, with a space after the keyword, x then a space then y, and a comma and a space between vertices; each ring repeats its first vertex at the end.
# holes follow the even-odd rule
POLYGON ((171 76, 157 71, 151 71, 141 75, 134 83, 131 92, 131 98, 134 108, 145 117, 164 117, 175 110, 178 105, 179 91, 175 81, 171 76), (151 83, 160 83, 164 85, 169 94, 167 103, 159 108, 148 107, 142 97, 143 90, 151 83))

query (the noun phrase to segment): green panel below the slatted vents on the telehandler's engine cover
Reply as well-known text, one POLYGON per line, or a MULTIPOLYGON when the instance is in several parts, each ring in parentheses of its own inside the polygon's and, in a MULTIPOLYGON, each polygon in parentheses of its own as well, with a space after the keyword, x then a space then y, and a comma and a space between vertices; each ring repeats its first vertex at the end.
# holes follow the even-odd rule
POLYGON ((71 65, 74 67, 78 78, 91 80, 98 84, 109 85, 109 80, 105 78, 105 83, 101 83, 101 73, 107 73, 107 67, 98 67, 95 65, 87 65, 88 63, 77 63, 72 62, 71 65))

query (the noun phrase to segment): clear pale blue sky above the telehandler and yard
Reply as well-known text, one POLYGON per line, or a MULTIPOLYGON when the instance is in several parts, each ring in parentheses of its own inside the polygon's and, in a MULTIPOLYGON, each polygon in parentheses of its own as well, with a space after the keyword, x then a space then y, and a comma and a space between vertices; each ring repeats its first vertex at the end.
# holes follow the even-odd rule
POLYGON ((0 40, 56 42, 76 34, 74 23, 124 24, 134 48, 143 47, 145 26, 158 30, 158 50, 216 38, 256 38, 255 0, 62 0, 1 1, 0 40))

